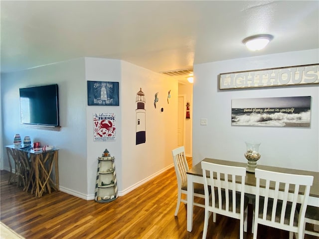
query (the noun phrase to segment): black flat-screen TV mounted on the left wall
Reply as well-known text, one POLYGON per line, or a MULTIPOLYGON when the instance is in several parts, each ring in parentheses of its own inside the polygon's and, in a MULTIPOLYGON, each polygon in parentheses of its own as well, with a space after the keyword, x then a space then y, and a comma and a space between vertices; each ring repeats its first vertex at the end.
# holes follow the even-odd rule
POLYGON ((59 126, 58 85, 20 88, 21 123, 59 126))

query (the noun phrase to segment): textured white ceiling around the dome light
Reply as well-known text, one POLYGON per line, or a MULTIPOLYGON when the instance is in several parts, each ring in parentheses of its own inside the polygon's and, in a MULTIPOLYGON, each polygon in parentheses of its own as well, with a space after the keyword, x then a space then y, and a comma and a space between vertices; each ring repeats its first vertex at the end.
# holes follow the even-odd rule
POLYGON ((79 57, 155 72, 319 48, 319 1, 0 1, 1 72, 79 57), (242 40, 269 33, 266 49, 242 40))

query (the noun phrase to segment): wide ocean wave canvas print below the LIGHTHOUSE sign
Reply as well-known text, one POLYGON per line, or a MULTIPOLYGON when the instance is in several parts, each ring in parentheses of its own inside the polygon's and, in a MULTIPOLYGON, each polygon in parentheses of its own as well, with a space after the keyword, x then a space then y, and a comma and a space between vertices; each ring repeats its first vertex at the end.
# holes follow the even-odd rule
POLYGON ((311 96, 233 99, 231 124, 310 127, 311 96))

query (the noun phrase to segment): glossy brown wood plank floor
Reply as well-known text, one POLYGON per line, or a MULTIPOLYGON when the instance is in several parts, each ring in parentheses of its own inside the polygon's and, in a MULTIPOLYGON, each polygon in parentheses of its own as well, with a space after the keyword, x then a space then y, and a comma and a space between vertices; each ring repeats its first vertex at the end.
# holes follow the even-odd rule
MULTIPOLYGON (((200 239, 204 210, 194 207, 191 233, 186 230, 186 206, 176 207, 174 168, 111 203, 86 201, 63 192, 34 198, 7 185, 1 171, 0 221, 25 239, 200 239)), ((252 210, 249 210, 249 217, 252 210)), ((258 239, 287 239, 285 231, 258 227, 258 239)), ((251 220, 246 239, 252 239, 251 220)), ((209 221, 207 239, 239 238, 239 221, 217 215, 209 221)), ((306 235, 306 239, 314 239, 306 235)))

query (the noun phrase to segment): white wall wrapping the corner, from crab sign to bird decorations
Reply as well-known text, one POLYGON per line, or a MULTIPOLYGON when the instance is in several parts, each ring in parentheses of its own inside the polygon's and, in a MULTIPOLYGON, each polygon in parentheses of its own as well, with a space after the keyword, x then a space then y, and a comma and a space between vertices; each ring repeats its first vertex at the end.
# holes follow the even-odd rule
POLYGON ((177 82, 125 61, 88 57, 85 75, 87 81, 119 82, 120 88, 120 106, 86 107, 89 198, 95 190, 97 157, 105 148, 115 156, 118 193, 122 196, 172 166, 171 149, 177 144, 177 82), (136 145, 136 94, 140 88, 146 96, 146 143, 136 145), (168 90, 172 95, 169 104, 168 90), (160 100, 155 109, 157 92, 160 100), (93 141, 94 113, 115 114, 115 141, 93 141))

